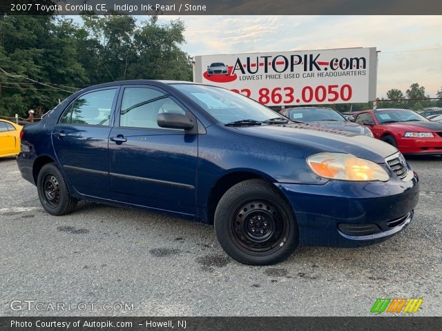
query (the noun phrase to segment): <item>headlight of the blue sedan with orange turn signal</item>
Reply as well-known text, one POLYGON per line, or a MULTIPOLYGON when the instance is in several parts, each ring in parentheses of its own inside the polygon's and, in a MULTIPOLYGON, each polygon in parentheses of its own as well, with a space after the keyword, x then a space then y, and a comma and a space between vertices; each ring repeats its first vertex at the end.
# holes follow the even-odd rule
POLYGON ((351 154, 319 153, 307 158, 311 171, 320 177, 340 181, 388 181, 390 176, 372 161, 351 154))

